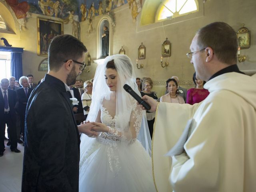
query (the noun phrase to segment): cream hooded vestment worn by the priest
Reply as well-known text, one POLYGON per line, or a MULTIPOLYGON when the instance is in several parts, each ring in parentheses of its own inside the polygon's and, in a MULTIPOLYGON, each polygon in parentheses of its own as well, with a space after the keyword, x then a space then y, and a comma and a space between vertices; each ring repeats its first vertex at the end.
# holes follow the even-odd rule
POLYGON ((152 140, 158 192, 256 191, 256 78, 230 72, 209 80, 194 105, 160 103, 152 140), (181 154, 164 156, 187 122, 181 154), (170 182, 169 182, 170 181, 170 182))

